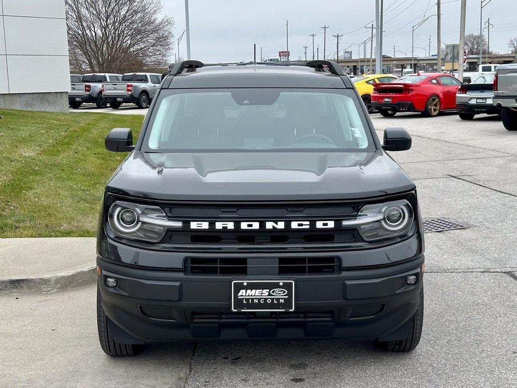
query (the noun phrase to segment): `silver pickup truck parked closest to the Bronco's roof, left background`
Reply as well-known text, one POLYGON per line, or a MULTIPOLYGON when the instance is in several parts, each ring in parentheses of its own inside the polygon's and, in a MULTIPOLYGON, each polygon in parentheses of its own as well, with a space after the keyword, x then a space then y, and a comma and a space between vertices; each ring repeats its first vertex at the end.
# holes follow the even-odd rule
POLYGON ((139 108, 149 108, 151 100, 158 91, 162 74, 128 73, 121 82, 104 82, 102 95, 113 109, 123 103, 136 104, 139 108))

